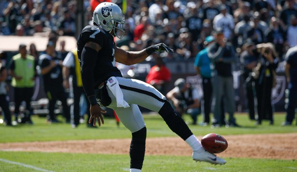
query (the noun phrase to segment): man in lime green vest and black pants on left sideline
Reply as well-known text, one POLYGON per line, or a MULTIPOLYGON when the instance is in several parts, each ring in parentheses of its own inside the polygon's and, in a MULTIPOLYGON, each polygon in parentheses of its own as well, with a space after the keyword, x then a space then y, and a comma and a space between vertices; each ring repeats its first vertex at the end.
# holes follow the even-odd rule
POLYGON ((35 58, 27 53, 27 46, 25 44, 19 45, 19 53, 12 57, 10 63, 10 75, 12 76, 11 86, 14 87, 14 101, 15 101, 15 120, 14 124, 33 123, 31 115, 33 108, 31 107, 31 99, 34 92, 36 64, 35 58), (18 120, 19 106, 22 101, 26 103, 28 113, 24 113, 24 117, 18 120))

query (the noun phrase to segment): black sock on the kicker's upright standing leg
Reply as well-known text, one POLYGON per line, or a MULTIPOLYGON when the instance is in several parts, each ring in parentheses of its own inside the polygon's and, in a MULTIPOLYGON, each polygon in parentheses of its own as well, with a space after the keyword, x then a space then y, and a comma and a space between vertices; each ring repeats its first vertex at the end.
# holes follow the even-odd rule
POLYGON ((132 133, 130 144, 130 168, 142 169, 146 150, 147 127, 132 133))

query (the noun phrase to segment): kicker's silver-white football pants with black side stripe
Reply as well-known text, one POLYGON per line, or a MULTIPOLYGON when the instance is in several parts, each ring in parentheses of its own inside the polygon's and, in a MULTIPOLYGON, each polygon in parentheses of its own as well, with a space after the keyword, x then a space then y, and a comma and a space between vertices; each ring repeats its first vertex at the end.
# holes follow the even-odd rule
POLYGON ((107 87, 107 91, 111 97, 111 104, 107 107, 113 109, 123 125, 131 133, 134 133, 146 125, 138 105, 159 112, 166 101, 166 97, 153 86, 143 81, 123 77, 116 77, 116 79, 123 92, 124 100, 129 103, 130 107, 117 107, 116 99, 109 87, 107 87))

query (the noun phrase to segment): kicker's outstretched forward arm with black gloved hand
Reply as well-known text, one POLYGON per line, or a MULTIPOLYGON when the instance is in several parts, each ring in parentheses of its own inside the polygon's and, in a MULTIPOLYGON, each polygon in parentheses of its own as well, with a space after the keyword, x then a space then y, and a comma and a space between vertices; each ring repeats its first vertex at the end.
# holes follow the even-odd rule
POLYGON ((115 60, 125 65, 134 65, 144 61, 153 52, 173 52, 167 45, 160 43, 152 45, 139 52, 127 52, 119 47, 115 48, 115 60))

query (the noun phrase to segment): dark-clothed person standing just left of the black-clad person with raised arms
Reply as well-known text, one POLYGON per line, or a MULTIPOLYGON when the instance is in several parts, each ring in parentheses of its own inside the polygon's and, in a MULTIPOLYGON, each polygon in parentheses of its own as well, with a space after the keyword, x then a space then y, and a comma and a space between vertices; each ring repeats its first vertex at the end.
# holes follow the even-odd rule
POLYGON ((252 69, 254 69, 258 62, 258 56, 254 53, 255 44, 251 39, 247 39, 243 45, 243 52, 240 55, 240 62, 242 66, 242 78, 244 84, 245 100, 247 104, 248 114, 250 120, 255 120, 255 80, 252 77, 252 69))

